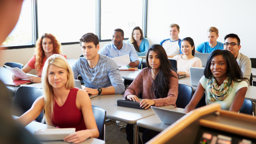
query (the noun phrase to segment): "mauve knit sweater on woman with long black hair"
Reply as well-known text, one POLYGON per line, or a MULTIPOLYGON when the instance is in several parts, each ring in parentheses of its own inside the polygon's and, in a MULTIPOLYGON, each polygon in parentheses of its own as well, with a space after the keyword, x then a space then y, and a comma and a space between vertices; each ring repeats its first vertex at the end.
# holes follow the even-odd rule
POLYGON ((176 107, 176 100, 178 97, 178 75, 172 71, 172 74, 176 77, 170 78, 169 92, 166 98, 156 99, 155 92, 153 91, 153 82, 151 76, 151 69, 143 68, 139 75, 134 79, 131 85, 125 90, 124 98, 127 95, 139 95, 142 93, 143 99, 153 99, 155 101, 155 106, 166 106, 174 105, 176 107))

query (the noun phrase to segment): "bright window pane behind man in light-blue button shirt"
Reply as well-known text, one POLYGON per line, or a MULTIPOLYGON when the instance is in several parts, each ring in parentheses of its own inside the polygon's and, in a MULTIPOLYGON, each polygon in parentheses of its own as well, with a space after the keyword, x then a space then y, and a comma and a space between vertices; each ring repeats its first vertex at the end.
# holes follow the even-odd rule
POLYGON ((143 0, 101 0, 100 19, 100 40, 111 39, 116 28, 124 31, 124 38, 130 38, 134 27, 143 30, 143 0))

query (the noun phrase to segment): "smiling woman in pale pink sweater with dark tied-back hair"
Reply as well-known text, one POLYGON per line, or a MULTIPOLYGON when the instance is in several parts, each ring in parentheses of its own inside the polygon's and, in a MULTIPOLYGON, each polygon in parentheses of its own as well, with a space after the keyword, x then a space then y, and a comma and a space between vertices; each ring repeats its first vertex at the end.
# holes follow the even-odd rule
POLYGON ((195 45, 190 37, 186 37, 181 41, 181 52, 184 55, 177 55, 173 58, 177 59, 178 75, 186 75, 190 77, 189 67, 202 67, 202 61, 194 57, 195 45))

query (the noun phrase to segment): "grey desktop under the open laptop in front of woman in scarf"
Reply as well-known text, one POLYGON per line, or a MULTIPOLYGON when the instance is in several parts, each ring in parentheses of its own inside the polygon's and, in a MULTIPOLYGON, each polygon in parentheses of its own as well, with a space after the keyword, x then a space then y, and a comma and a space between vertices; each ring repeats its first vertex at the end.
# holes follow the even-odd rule
MULTIPOLYGON (((182 108, 173 108, 172 110, 178 111, 178 112, 184 111, 184 109, 182 108)), ((166 129, 168 126, 170 126, 168 124, 162 123, 161 120, 157 117, 157 115, 142 118, 137 121, 137 125, 139 127, 143 127, 143 128, 158 131, 158 132, 161 132, 164 129, 166 129)))

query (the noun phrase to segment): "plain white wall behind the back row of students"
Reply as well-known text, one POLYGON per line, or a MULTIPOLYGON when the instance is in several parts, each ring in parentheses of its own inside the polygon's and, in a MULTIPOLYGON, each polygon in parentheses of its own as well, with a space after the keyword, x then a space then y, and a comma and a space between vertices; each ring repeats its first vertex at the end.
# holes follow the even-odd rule
POLYGON ((180 39, 191 37, 195 46, 206 42, 209 27, 219 29, 217 41, 235 33, 241 40, 240 52, 256 58, 255 0, 148 0, 147 38, 152 44, 168 39, 170 24, 180 26, 180 39))

